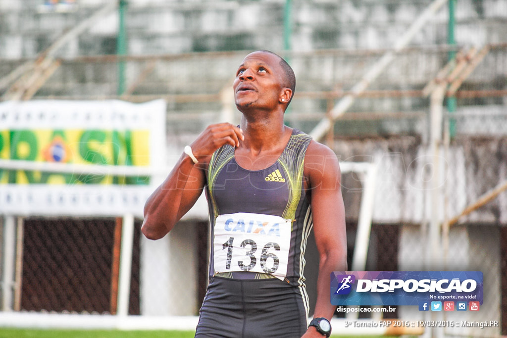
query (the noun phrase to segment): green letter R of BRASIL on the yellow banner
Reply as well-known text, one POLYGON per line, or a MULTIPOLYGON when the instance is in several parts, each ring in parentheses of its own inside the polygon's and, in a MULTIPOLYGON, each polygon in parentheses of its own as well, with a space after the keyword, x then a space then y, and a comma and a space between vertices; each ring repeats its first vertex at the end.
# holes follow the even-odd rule
MULTIPOLYGON (((30 130, 15 130, 10 132, 11 138, 11 159, 13 160, 24 160, 24 161, 34 161, 37 157, 37 153, 39 151, 37 146, 37 137, 30 130), (27 147, 27 154, 20 154, 21 148, 27 147)), ((27 170, 10 170, 9 171, 9 183, 16 183, 16 174, 24 173, 26 175, 26 179, 28 183, 35 183, 35 179, 33 177, 33 171, 27 170)))

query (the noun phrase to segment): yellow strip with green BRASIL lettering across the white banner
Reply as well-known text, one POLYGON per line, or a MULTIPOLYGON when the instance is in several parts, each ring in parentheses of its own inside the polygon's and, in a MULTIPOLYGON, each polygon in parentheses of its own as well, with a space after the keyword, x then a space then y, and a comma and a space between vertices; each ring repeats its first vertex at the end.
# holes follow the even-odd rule
MULTIPOLYGON (((143 165, 142 156, 146 153, 136 150, 136 135, 130 130, 3 130, 0 131, 0 158, 133 167, 143 165), (141 164, 136 164, 134 156, 141 156, 141 164)), ((0 180, 9 184, 146 185, 150 183, 150 176, 106 176, 0 168, 0 180)))

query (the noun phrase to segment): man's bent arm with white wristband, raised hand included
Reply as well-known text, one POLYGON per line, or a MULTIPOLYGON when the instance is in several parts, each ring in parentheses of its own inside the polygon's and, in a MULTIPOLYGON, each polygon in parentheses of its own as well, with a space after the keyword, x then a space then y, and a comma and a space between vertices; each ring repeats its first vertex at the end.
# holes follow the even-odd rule
POLYGON ((230 123, 208 126, 192 142, 192 152, 199 161, 183 154, 164 182, 144 205, 141 231, 149 239, 164 237, 176 222, 197 202, 206 184, 205 172, 213 152, 224 144, 239 146, 243 132, 230 123))

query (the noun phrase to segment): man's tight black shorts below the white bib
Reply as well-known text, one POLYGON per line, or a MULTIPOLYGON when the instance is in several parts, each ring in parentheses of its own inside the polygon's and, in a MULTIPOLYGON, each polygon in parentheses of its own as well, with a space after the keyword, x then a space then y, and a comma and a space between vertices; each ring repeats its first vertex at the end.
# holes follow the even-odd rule
POLYGON ((211 278, 196 337, 301 337, 308 325, 300 288, 278 279, 211 278))

